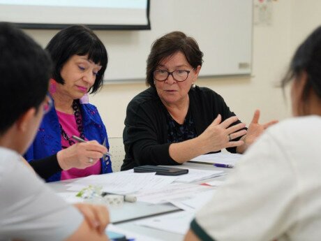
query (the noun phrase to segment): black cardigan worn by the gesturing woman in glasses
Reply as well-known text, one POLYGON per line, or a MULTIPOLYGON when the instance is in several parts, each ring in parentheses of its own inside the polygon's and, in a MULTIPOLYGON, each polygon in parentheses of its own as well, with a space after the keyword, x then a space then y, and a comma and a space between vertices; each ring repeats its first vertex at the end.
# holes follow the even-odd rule
MULTIPOLYGON (((222 115, 222 121, 235 115, 223 98, 211 89, 192 87, 188 96, 197 136, 207 129, 218 114, 222 115)), ((123 133, 126 154, 121 170, 142 165, 179 164, 170 157, 170 143, 166 143, 166 112, 153 87, 144 90, 130 101, 123 133)), ((234 124, 237 123, 239 122, 234 124)), ((228 148, 228 151, 236 152, 236 147, 228 148)))

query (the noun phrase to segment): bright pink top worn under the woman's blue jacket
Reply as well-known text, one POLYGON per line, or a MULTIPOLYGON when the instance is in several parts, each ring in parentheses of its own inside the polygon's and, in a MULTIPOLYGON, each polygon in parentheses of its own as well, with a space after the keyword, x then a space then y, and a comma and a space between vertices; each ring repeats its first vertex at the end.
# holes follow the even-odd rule
MULTIPOLYGON (((67 135, 71 138, 71 136, 80 136, 80 133, 77 129, 77 124, 74 115, 66 114, 63 112, 57 111, 59 123, 61 124, 64 131, 66 131, 67 135)), ((73 139, 71 139, 73 140, 73 139)), ((87 139, 85 139, 87 140, 87 139)), ((77 142, 76 140, 74 140, 77 142)), ((69 147, 69 143, 61 136, 61 146, 69 147)), ((67 180, 77 177, 87 177, 89 175, 100 174, 101 163, 97 161, 95 165, 89 166, 88 168, 78 169, 78 168, 70 168, 69 170, 61 171, 61 180, 67 180)))

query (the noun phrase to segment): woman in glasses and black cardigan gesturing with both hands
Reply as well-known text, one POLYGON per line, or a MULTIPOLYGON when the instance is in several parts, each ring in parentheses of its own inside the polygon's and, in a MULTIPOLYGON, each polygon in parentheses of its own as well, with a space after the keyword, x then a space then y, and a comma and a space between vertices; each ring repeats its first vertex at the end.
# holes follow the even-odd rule
POLYGON ((260 112, 246 130, 223 98, 197 87, 203 53, 180 31, 158 38, 147 59, 149 86, 128 104, 121 170, 142 165, 177 165, 209 152, 243 153, 264 129, 260 112))

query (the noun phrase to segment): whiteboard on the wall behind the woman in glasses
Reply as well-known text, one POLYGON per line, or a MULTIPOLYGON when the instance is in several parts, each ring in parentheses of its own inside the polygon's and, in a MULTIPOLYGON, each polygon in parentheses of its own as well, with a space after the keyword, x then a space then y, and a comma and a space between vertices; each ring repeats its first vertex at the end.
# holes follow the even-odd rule
POLYGON ((110 57, 105 81, 144 80, 151 44, 170 31, 195 38, 200 76, 251 73, 252 0, 151 0, 150 31, 96 31, 110 57))

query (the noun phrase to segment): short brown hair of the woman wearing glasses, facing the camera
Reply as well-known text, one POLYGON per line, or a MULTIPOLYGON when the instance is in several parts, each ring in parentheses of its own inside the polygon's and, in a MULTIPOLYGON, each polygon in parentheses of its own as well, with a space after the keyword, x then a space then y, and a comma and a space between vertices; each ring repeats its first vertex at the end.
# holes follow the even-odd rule
POLYGON ((194 38, 186 36, 181 31, 173 31, 158 38, 151 45, 151 52, 147 58, 146 85, 155 87, 153 73, 161 61, 177 52, 182 52, 188 64, 193 68, 202 66, 203 52, 194 38))

